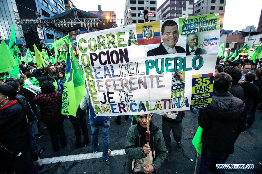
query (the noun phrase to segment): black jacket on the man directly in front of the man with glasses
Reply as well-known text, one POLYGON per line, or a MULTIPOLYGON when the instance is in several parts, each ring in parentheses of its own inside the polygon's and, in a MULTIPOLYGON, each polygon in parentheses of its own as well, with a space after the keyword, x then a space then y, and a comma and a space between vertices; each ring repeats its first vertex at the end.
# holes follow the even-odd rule
POLYGON ((244 82, 239 84, 244 90, 244 102, 246 105, 253 105, 254 103, 259 102, 259 88, 251 83, 251 82, 244 82))

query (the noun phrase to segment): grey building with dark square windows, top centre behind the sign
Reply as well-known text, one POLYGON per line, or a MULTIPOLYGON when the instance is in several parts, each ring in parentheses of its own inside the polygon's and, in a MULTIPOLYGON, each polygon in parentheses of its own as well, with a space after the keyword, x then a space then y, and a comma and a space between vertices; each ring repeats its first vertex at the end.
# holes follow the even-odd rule
MULTIPOLYGON (((124 18, 132 18, 132 23, 145 22, 144 16, 140 17, 140 10, 144 10, 144 7, 148 7, 149 12, 155 12, 154 17, 148 17, 148 22, 156 21, 157 12, 157 0, 126 0, 124 18)), ((128 23, 125 23, 128 25, 128 23)))

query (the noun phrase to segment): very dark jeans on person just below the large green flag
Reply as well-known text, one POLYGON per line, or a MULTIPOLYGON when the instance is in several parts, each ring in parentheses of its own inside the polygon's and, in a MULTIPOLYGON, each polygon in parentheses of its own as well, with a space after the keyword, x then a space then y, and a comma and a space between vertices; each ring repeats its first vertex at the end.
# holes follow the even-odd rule
POLYGON ((88 138, 88 131, 87 131, 87 126, 86 126, 86 113, 82 112, 79 115, 77 115, 77 117, 69 115, 69 119, 75 128, 75 139, 76 139, 75 145, 77 147, 81 147, 82 145, 81 129, 84 135, 84 143, 88 144, 89 138, 88 138))

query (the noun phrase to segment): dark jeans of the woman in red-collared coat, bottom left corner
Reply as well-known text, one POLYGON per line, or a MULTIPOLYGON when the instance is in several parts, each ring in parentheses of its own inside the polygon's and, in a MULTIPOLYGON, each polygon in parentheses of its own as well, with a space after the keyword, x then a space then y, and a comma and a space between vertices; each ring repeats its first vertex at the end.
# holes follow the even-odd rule
POLYGON ((36 165, 30 157, 28 151, 19 157, 8 159, 8 163, 15 169, 16 174, 36 174, 38 173, 36 165))

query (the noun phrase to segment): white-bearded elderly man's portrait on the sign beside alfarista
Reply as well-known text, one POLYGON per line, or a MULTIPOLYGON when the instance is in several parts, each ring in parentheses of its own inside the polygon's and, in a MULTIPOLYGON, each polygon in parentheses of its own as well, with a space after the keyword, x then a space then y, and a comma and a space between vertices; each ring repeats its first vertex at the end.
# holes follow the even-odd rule
POLYGON ((187 56, 207 54, 206 50, 198 48, 198 37, 196 33, 187 35, 187 56))

